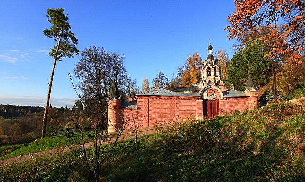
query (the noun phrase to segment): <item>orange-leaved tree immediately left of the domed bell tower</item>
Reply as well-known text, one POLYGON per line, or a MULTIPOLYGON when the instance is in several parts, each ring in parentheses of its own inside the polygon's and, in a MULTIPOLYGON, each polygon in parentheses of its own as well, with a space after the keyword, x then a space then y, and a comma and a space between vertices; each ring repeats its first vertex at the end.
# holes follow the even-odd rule
POLYGON ((181 77, 181 86, 189 87, 201 80, 201 68, 203 66, 200 55, 195 52, 186 59, 186 67, 181 77))

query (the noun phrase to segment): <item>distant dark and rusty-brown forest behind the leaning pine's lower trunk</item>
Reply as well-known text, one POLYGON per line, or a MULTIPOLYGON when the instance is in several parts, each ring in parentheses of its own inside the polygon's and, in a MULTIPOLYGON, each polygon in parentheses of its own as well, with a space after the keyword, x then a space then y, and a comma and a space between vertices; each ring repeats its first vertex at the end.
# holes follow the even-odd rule
MULTIPOLYGON (((73 108, 80 112, 77 107, 73 108)), ((72 109, 49 106, 48 136, 66 126, 74 126, 73 122, 69 123, 74 116, 72 109)), ((29 143, 40 138, 43 111, 44 107, 39 106, 0 104, 0 145, 29 143)))

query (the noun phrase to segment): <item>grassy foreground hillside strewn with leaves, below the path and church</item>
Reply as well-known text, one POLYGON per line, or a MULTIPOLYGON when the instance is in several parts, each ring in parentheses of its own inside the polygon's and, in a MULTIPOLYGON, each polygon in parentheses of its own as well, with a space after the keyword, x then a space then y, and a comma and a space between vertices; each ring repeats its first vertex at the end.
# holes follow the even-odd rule
MULTIPOLYGON (((140 139, 138 157, 133 140, 119 143, 101 166, 102 181, 305 181, 305 106, 273 104, 246 114, 188 119, 167 131, 158 129, 159 134, 140 139)), ((46 182, 91 178, 78 153, 27 167, 11 166, 2 177, 46 182)))

